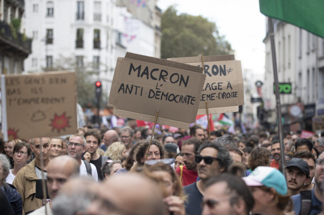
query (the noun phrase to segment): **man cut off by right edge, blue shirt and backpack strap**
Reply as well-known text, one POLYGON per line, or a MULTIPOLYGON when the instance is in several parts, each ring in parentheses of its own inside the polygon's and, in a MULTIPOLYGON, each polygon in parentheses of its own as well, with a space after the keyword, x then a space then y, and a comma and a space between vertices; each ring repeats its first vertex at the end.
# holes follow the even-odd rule
POLYGON ((311 190, 305 190, 301 191, 300 194, 292 196, 293 201, 293 211, 295 215, 299 215, 300 211, 304 211, 305 207, 302 205, 303 202, 306 202, 307 200, 310 204, 308 205, 308 209, 305 210, 307 215, 316 215, 319 214, 322 211, 322 201, 323 201, 323 189, 324 189, 324 153, 321 153, 321 155, 318 157, 316 161, 316 167, 315 167, 315 188, 311 190), (308 195, 308 198, 305 198, 303 196, 308 195), (302 208, 303 207, 303 208, 302 208))

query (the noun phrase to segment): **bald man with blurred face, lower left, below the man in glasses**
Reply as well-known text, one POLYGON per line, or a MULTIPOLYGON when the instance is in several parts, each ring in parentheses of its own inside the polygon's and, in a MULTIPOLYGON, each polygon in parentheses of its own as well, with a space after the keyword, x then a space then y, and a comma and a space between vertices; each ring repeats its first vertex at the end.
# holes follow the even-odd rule
MULTIPOLYGON (((47 190, 50 199, 54 199, 65 184, 66 180, 72 175, 79 174, 79 163, 67 155, 55 157, 47 166, 47 190)), ((52 215, 51 202, 46 205, 47 215, 52 215)), ((35 210, 30 215, 44 215, 45 206, 35 210)))

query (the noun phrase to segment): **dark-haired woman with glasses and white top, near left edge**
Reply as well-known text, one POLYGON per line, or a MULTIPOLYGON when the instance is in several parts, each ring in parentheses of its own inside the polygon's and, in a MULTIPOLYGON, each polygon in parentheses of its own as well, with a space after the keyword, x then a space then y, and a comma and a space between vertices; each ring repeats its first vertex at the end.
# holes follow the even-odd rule
POLYGON ((9 170, 9 174, 6 178, 6 183, 12 184, 16 177, 17 172, 23 168, 27 161, 32 157, 32 150, 28 143, 18 142, 13 147, 13 169, 9 170))

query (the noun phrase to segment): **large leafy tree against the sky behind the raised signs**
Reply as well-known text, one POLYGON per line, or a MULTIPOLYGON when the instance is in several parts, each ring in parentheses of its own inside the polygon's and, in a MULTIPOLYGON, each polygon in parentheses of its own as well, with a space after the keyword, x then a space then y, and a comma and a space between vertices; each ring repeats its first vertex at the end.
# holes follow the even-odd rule
POLYGON ((216 24, 201 16, 177 15, 170 6, 162 15, 161 58, 233 54, 216 24))

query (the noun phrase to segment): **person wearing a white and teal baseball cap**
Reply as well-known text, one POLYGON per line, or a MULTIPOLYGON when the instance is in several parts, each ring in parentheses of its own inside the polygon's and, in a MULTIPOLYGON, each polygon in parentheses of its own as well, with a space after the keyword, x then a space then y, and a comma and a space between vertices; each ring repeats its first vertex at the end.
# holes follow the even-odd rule
POLYGON ((278 169, 259 166, 243 180, 253 193, 253 213, 286 215, 292 212, 292 199, 288 194, 287 182, 278 169))

